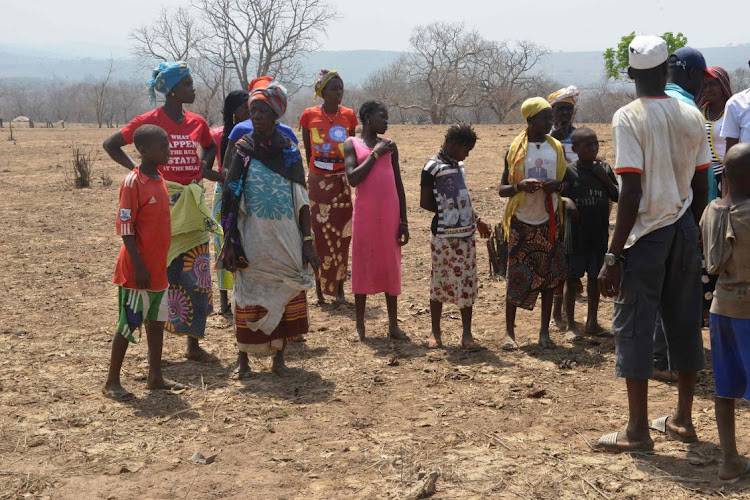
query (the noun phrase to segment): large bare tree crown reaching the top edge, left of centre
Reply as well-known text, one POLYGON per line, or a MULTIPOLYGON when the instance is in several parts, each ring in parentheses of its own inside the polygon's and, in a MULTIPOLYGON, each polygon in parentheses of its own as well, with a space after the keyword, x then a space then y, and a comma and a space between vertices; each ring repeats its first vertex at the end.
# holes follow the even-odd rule
POLYGON ((202 53, 231 68, 242 87, 273 75, 297 80, 299 58, 336 18, 324 0, 192 0, 211 32, 202 53))

